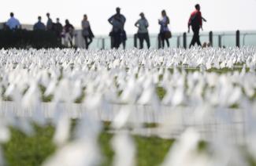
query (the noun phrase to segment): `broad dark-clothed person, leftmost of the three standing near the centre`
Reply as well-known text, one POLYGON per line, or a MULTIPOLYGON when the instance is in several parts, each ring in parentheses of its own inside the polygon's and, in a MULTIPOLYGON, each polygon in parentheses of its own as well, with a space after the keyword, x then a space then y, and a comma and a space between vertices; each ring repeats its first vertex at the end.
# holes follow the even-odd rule
POLYGON ((117 7, 116 11, 117 13, 111 16, 108 20, 113 26, 112 31, 109 33, 109 36, 111 37, 111 49, 118 49, 121 42, 124 42, 124 39, 126 39, 126 34, 124 33, 124 23, 126 19, 120 13, 121 9, 119 7, 117 7))

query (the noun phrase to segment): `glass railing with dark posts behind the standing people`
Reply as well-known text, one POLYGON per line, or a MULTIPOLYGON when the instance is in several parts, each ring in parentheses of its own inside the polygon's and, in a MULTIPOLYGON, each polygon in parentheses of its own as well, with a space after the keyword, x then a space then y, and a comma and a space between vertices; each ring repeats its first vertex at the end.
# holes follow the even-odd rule
MULTIPOLYGON (((187 48, 191 42, 193 34, 187 34, 184 38, 183 33, 174 33, 173 38, 169 39, 170 47, 178 48, 178 47, 185 47, 187 48)), ((239 31, 239 46, 256 46, 256 31, 239 31)), ((210 40, 210 32, 202 32, 200 34, 200 40, 202 44, 204 42, 211 44, 213 47, 233 47, 237 46, 237 34, 236 31, 227 31, 227 32, 213 32, 212 33, 212 40, 210 40)), ((76 31, 76 39, 75 39, 76 46, 79 48, 84 48, 84 41, 81 36, 80 31, 76 31)), ((158 34, 151 34, 150 35, 150 46, 153 49, 159 48, 158 42, 158 34)), ((137 39, 137 47, 139 47, 139 39, 137 39)), ((90 45, 91 49, 110 49, 110 38, 109 36, 98 36, 94 38, 93 42, 90 45)), ((122 45, 121 45, 121 48, 122 45)), ((126 49, 135 48, 135 36, 128 35, 126 41, 126 49)), ((147 48, 146 42, 144 42, 144 48, 147 48)))

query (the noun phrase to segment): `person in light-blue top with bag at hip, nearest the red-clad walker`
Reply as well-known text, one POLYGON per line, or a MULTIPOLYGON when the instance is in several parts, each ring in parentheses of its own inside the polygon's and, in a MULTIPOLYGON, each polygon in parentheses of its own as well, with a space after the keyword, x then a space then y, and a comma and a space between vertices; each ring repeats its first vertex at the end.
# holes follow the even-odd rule
POLYGON ((160 34, 159 38, 161 39, 161 47, 165 47, 165 42, 167 43, 167 46, 169 47, 169 38, 166 36, 166 33, 169 32, 168 24, 170 23, 169 17, 166 15, 165 10, 161 11, 161 20, 158 20, 158 23, 160 24, 160 34))

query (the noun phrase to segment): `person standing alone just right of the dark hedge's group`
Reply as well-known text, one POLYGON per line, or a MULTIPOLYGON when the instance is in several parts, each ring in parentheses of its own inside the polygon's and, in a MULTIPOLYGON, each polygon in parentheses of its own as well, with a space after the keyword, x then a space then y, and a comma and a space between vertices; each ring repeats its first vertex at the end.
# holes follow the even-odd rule
POLYGON ((89 45, 92 42, 92 38, 94 38, 95 35, 91 31, 91 26, 90 26, 90 23, 88 21, 88 18, 87 18, 86 14, 83 15, 82 34, 83 34, 83 38, 84 38, 84 41, 85 41, 85 49, 88 49, 89 45))

